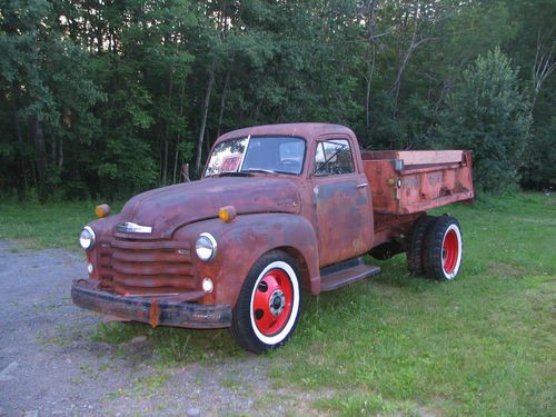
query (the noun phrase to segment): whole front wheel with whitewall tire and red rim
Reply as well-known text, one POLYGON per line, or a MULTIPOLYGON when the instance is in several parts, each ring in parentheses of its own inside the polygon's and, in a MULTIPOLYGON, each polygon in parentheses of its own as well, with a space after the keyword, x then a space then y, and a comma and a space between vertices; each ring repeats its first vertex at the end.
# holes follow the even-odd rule
POLYGON ((282 346, 299 319, 300 275, 294 259, 279 250, 251 268, 232 311, 231 334, 247 350, 260 354, 282 346))

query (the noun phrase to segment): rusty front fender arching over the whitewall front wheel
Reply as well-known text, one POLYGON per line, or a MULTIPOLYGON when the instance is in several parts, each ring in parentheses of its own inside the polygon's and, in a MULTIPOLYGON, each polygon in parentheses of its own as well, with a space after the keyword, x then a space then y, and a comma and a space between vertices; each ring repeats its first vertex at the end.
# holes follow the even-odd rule
POLYGON ((238 216, 230 222, 205 220, 179 229, 175 239, 191 242, 191 258, 199 279, 209 277, 215 284, 202 304, 235 306, 252 265, 277 248, 294 249, 302 257, 305 266, 298 267, 308 278, 309 290, 315 295, 320 292, 317 236, 312 225, 301 216, 258 214, 238 216), (211 234, 217 241, 217 255, 211 262, 202 262, 196 256, 195 240, 201 232, 211 234))

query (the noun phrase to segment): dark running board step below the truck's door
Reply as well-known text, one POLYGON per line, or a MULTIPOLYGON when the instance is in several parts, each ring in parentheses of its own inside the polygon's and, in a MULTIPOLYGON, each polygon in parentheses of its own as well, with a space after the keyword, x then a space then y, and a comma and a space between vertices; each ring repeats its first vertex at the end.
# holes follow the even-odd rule
POLYGON ((320 269, 320 290, 331 291, 380 272, 379 267, 366 265, 363 258, 346 260, 320 269))

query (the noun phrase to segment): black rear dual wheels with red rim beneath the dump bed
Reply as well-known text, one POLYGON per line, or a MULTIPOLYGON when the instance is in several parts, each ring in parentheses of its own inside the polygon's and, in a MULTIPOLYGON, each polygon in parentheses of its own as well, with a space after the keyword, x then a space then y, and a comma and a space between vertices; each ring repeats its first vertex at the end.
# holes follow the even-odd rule
POLYGON ((415 224, 407 265, 414 274, 450 281, 461 268, 463 249, 461 229, 454 217, 424 216, 415 224))

